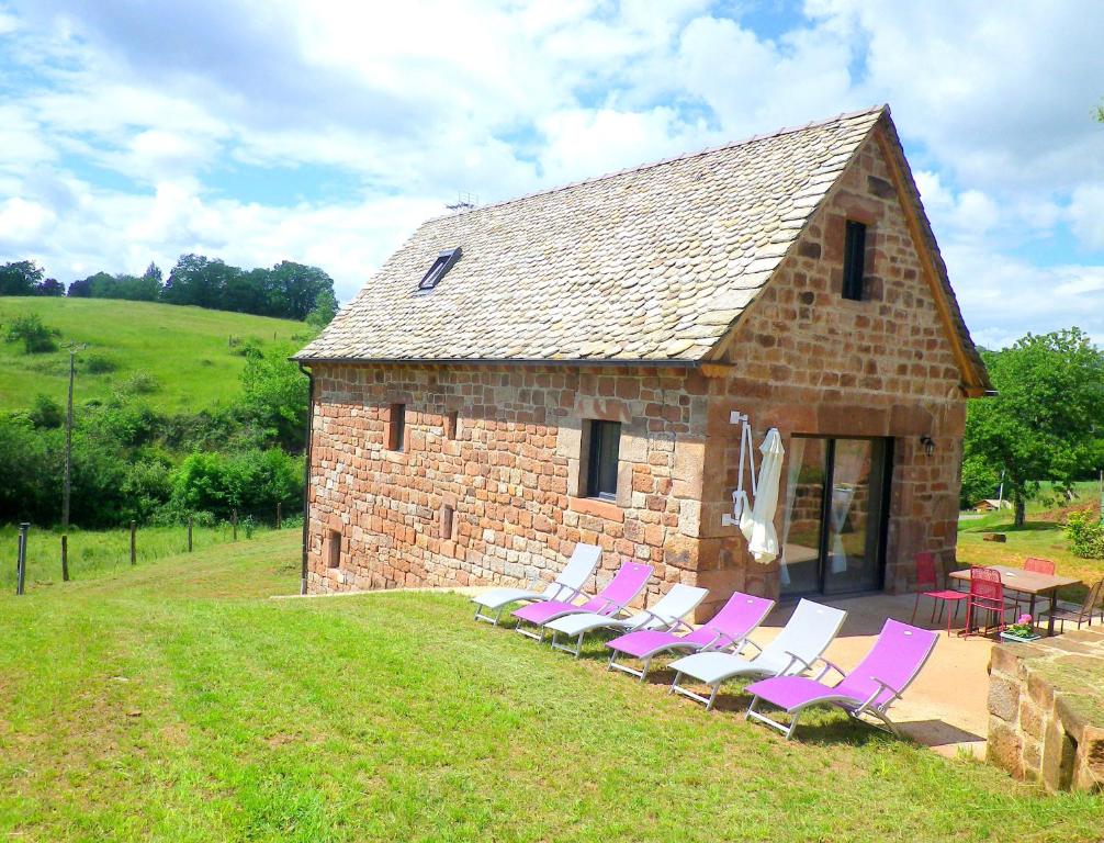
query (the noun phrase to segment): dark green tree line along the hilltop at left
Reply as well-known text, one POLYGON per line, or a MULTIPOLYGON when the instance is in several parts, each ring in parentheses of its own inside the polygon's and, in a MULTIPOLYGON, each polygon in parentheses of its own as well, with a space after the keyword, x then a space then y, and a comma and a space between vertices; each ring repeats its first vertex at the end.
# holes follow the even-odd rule
POLYGON ((34 261, 0 265, 0 296, 121 298, 195 305, 215 310, 275 316, 326 325, 337 313, 333 280, 317 266, 280 261, 272 268, 243 270, 217 257, 181 255, 162 276, 155 263, 141 275, 97 272, 65 285, 46 277, 34 261))

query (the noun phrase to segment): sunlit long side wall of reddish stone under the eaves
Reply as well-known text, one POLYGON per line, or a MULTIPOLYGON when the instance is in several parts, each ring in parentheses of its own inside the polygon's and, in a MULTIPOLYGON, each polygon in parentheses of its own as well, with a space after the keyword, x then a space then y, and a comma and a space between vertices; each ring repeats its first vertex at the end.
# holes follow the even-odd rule
POLYGON ((602 546, 604 571, 625 557, 655 565, 652 596, 693 581, 700 373, 318 365, 315 376, 311 591, 551 579, 576 541, 602 546), (402 451, 388 447, 396 403, 402 451), (591 419, 623 425, 616 502, 581 494, 591 419))

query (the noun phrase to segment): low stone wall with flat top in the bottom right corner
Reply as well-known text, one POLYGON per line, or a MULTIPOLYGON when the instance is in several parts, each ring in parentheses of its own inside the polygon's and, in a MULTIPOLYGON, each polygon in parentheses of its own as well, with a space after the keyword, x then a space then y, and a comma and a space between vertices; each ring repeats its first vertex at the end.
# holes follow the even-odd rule
POLYGON ((1050 791, 1104 791, 1104 629, 992 649, 988 760, 1050 791))

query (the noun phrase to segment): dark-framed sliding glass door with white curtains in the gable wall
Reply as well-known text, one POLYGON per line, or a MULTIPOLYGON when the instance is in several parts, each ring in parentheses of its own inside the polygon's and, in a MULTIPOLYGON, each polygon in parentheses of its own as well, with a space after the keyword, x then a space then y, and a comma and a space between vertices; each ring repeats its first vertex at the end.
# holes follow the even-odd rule
POLYGON ((891 441, 794 436, 783 510, 782 593, 882 586, 891 441))

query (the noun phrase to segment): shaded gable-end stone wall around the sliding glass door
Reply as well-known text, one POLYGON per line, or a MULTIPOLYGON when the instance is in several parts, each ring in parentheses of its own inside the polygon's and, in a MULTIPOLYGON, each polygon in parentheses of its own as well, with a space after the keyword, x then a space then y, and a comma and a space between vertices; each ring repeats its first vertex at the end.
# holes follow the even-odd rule
MULTIPOLYGON (((924 278, 891 173, 873 137, 742 317, 725 351, 731 376, 711 382, 703 542, 721 546, 718 584, 778 593, 778 566, 755 563, 732 528, 721 527, 736 483, 739 429, 750 413, 756 442, 793 434, 894 440, 885 588, 911 587, 915 554, 945 569, 955 560, 966 400, 935 298, 924 278), (842 297, 847 220, 868 226, 866 291, 842 297), (927 455, 920 438, 930 436, 927 455)), ((776 519, 782 529, 782 513, 776 519)))

